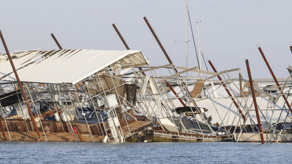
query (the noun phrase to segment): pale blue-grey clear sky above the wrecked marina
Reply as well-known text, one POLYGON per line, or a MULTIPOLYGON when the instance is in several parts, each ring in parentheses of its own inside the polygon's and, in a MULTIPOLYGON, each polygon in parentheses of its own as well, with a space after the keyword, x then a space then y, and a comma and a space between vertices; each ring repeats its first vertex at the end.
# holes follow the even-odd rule
MULTIPOLYGON (((115 23, 130 49, 140 50, 151 66, 168 64, 143 19, 146 17, 174 65, 186 66, 184 0, 0 0, 0 4, 0 30, 9 52, 58 49, 51 33, 64 49, 125 50, 112 27, 115 23)), ((248 78, 248 59, 253 79, 272 78, 259 44, 275 76, 289 77, 292 1, 188 0, 187 6, 196 47, 199 22, 205 61, 209 59, 218 72, 241 68, 243 77, 248 78)), ((187 23, 188 67, 196 67, 189 17, 187 23)), ((2 44, 0 53, 5 53, 2 44)), ((202 69, 207 70, 201 60, 202 69)))

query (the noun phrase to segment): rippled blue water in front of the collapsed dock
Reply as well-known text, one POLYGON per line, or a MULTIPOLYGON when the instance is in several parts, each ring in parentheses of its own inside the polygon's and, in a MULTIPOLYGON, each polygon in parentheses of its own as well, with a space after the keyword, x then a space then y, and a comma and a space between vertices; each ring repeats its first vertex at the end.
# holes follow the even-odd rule
POLYGON ((1 163, 291 163, 292 143, 0 142, 1 163))

